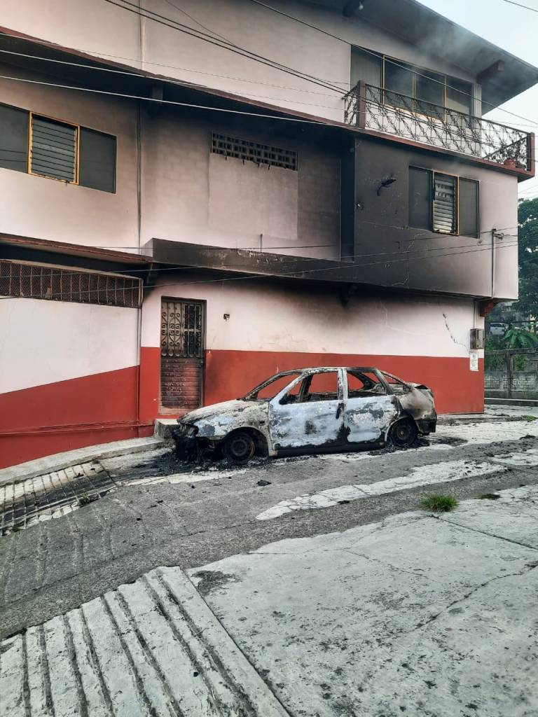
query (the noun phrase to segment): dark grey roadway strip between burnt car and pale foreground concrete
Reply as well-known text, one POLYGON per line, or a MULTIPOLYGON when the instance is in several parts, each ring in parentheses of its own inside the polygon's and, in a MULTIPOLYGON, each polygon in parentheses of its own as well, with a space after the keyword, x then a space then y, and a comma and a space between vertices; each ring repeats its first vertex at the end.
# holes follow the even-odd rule
MULTIPOLYGON (((371 485, 375 493, 376 483, 398 483, 417 470, 438 474, 439 465, 455 460, 473 465, 510 453, 524 455, 537 445, 538 422, 488 424, 481 435, 489 442, 483 444, 472 442, 475 433, 473 424, 443 426, 438 442, 417 450, 270 461, 248 470, 202 471, 204 480, 199 481, 197 473, 184 473, 160 476, 156 480, 165 482, 155 483, 152 476, 161 465, 162 450, 105 459, 101 463, 117 483, 128 478, 133 484, 0 538, 0 637, 78 607, 157 566, 200 566, 280 538, 330 533, 334 526, 345 530, 415 510, 431 490, 427 483, 257 520, 263 511, 298 495, 357 483, 371 485), (508 431, 514 440, 491 442, 508 431), (447 442, 439 442, 443 440, 447 442), (260 479, 268 485, 258 485, 260 479)), ((463 469, 458 477, 447 469, 447 482, 438 480, 435 490, 467 498, 537 482, 533 461, 527 465, 518 460, 478 475, 466 475, 463 469)))

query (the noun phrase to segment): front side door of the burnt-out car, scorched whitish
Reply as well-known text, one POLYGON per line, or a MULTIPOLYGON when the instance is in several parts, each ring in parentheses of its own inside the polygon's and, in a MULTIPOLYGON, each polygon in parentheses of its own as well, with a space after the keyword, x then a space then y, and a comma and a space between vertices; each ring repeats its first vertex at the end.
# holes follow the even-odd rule
POLYGON ((345 444, 343 380, 341 369, 312 371, 270 401, 269 432, 277 452, 338 450, 345 444))

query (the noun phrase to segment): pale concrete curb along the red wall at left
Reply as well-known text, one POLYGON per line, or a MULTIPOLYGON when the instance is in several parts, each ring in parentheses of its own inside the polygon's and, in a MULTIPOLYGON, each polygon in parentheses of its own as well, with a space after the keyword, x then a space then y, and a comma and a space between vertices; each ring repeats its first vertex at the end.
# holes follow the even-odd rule
POLYGON ((111 443, 100 443, 95 446, 77 448, 76 450, 64 453, 46 455, 42 458, 29 460, 26 463, 11 465, 0 470, 0 485, 5 483, 20 483, 22 480, 35 478, 37 475, 52 473, 55 470, 68 468, 77 463, 100 460, 101 458, 113 458, 115 456, 127 455, 128 453, 142 453, 146 450, 153 450, 165 445, 160 437, 131 438, 125 441, 113 441, 111 443))

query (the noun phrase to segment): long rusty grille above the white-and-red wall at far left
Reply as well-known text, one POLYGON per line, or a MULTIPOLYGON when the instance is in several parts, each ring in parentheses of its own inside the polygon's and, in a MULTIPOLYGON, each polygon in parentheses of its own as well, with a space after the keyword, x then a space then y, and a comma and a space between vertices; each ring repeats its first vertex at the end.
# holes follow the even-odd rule
POLYGON ((0 295, 138 308, 141 282, 115 274, 0 260, 0 295))

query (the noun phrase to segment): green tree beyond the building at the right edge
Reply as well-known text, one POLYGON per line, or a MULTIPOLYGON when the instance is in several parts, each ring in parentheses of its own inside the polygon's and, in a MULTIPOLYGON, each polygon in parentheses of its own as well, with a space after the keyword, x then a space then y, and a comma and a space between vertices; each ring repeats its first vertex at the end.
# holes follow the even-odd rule
POLYGON ((514 313, 524 318, 538 316, 538 197, 519 200, 517 221, 519 300, 509 306, 496 306, 489 315, 490 321, 509 320, 514 313))

